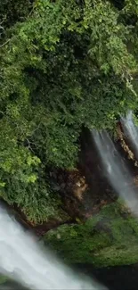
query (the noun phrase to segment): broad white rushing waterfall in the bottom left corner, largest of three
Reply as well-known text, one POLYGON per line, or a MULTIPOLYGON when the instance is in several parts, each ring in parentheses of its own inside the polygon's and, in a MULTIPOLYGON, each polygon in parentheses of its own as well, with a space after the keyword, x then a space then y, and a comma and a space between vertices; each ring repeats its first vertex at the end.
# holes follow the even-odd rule
POLYGON ((107 289, 73 271, 40 247, 35 237, 0 207, 0 272, 30 289, 107 289))

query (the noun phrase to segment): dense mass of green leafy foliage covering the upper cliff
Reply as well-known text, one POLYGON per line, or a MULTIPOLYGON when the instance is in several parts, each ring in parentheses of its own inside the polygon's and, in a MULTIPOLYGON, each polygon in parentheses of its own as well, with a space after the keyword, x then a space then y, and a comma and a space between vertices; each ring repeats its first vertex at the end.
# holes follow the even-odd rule
POLYGON ((112 129, 137 107, 137 4, 4 0, 0 15, 1 195, 45 220, 45 171, 76 166, 82 126, 112 129))

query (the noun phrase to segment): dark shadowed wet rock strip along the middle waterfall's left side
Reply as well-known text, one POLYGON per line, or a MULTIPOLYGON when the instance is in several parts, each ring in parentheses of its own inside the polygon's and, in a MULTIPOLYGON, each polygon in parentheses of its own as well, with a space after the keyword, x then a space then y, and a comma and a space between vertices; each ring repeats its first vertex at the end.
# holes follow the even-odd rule
POLYGON ((89 192, 85 199, 93 208, 93 213, 100 211, 105 204, 113 203, 117 199, 116 193, 109 184, 101 166, 101 157, 97 153, 93 138, 89 130, 85 129, 81 136, 81 153, 79 168, 85 175, 89 192))

